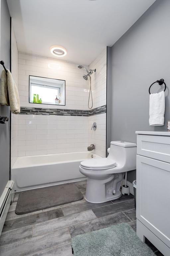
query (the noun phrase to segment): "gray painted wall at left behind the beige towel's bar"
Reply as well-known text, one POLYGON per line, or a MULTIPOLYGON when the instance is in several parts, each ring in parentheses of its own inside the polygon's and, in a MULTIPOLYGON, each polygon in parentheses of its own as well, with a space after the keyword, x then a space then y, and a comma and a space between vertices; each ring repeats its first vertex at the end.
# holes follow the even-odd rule
MULTIPOLYGON (((0 20, 0 58, 10 69, 10 14, 6 0, 1 0, 0 20)), ((0 65, 0 74, 3 67, 0 65)), ((0 106, 0 115, 9 116, 10 108, 0 106)), ((10 180, 10 120, 6 124, 0 124, 0 196, 10 180)))

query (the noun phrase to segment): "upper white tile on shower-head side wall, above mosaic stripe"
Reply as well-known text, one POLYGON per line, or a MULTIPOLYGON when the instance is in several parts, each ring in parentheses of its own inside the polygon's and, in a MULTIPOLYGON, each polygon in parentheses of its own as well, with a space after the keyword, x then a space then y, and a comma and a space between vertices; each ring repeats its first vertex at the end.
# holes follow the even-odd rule
MULTIPOLYGON (((107 48, 89 65, 96 72, 91 75, 93 108, 106 105, 107 48)), ((91 106, 90 97, 90 106, 91 106)))

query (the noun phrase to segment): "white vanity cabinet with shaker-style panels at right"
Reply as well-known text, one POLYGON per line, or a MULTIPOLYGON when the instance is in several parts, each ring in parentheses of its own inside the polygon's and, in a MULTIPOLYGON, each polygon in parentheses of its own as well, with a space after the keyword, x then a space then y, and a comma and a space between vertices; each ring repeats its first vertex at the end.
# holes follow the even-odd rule
POLYGON ((170 132, 136 132, 136 232, 170 256, 170 132))

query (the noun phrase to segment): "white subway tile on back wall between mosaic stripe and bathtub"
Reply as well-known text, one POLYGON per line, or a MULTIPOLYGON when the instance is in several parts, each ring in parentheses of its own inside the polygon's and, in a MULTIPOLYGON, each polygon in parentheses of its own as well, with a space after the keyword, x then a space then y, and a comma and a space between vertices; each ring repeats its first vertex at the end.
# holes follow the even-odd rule
POLYGON ((19 115, 18 156, 86 151, 88 118, 19 115))

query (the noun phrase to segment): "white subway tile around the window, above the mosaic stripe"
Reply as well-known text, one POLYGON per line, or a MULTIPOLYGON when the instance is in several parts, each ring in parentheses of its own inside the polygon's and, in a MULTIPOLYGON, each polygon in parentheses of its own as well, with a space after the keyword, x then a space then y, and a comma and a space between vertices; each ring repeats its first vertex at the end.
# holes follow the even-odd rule
MULTIPOLYGON (((78 64, 50 58, 19 53, 19 95, 22 107, 87 109, 89 81, 83 79, 85 70, 78 64), (66 105, 46 105, 29 103, 29 75, 65 80, 66 105)), ((89 68, 88 66, 86 66, 89 68)))

